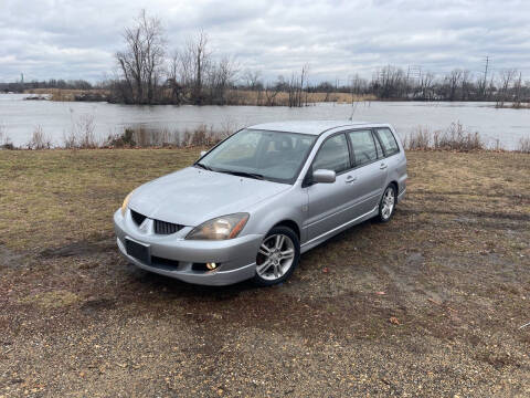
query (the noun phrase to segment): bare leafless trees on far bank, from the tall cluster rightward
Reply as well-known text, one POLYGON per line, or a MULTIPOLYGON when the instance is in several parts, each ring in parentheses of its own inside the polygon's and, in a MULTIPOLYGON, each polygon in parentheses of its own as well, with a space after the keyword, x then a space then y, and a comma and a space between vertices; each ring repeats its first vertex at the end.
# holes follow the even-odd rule
POLYGON ((389 65, 375 71, 371 78, 354 75, 340 85, 311 85, 305 65, 289 77, 264 82, 259 71, 241 71, 233 57, 214 57, 203 31, 169 53, 160 20, 146 11, 125 29, 124 39, 125 49, 116 53, 118 73, 108 85, 113 101, 127 104, 303 106, 310 93, 325 93, 320 101, 332 101, 333 93, 349 93, 352 101, 354 96, 368 95, 380 100, 497 101, 499 106, 530 100, 530 82, 523 82, 517 70, 496 74, 486 70, 474 76, 467 70, 455 69, 436 76, 428 71, 411 73, 389 65), (254 95, 242 93, 245 91, 254 95))

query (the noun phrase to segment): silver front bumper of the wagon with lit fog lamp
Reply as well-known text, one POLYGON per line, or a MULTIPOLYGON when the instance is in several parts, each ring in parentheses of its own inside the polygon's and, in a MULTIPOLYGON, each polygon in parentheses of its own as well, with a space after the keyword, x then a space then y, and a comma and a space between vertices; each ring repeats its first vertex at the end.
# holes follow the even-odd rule
POLYGON ((254 276, 256 254, 263 241, 261 234, 247 234, 224 241, 186 240, 191 230, 184 227, 173 234, 142 232, 132 221, 130 211, 125 217, 121 210, 114 213, 114 229, 119 251, 132 264, 161 275, 188 283, 202 285, 227 285, 254 276), (140 261, 127 253, 125 239, 149 245, 151 259, 169 260, 150 263, 140 261), (213 271, 195 271, 193 263, 215 262, 221 264, 213 271))

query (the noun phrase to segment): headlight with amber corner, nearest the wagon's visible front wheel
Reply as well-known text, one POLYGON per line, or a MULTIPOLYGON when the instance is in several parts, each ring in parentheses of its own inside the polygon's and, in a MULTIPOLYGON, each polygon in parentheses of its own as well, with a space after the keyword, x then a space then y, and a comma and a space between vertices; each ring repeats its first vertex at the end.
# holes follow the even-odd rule
POLYGON ((248 213, 235 213, 218 217, 195 227, 186 239, 224 240, 237 237, 248 221, 248 213))

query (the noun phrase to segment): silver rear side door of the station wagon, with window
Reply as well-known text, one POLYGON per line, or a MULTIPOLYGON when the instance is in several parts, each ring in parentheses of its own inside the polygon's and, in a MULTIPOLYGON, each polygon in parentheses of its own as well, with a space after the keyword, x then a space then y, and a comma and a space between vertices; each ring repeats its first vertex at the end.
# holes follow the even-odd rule
POLYGON ((383 157, 380 143, 371 129, 360 129, 348 133, 354 163, 354 205, 352 218, 362 217, 379 205, 385 188, 388 165, 383 157))

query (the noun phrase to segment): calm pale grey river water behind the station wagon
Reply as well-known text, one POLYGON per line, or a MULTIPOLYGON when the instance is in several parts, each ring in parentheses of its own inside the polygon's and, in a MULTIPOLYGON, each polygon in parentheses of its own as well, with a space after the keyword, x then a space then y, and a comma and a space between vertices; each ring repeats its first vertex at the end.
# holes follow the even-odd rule
POLYGON ((277 121, 353 119, 391 123, 404 137, 417 126, 445 129, 459 122, 478 132, 488 146, 499 139, 505 149, 515 149, 521 137, 530 137, 530 109, 496 109, 494 103, 365 102, 317 104, 303 108, 263 106, 136 106, 107 103, 24 101, 24 94, 0 94, 0 132, 17 146, 26 144, 35 128, 62 145, 63 137, 80 121, 93 119, 95 134, 104 139, 126 127, 182 133, 199 125, 214 130, 277 121))

